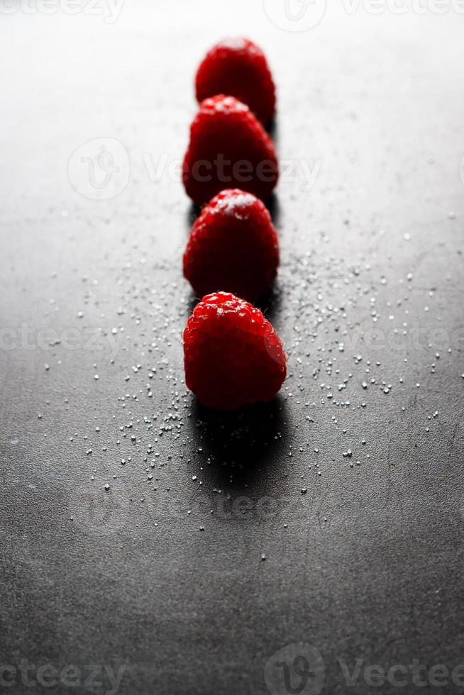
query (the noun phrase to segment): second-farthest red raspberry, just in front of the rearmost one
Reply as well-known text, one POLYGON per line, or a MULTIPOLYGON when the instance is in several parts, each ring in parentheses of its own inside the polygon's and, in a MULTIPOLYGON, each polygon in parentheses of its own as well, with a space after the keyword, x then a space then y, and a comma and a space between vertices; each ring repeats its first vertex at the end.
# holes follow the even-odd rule
POLYGON ((248 106, 223 94, 201 102, 182 166, 185 190, 195 203, 206 203, 226 186, 265 200, 278 176, 272 140, 248 106))

